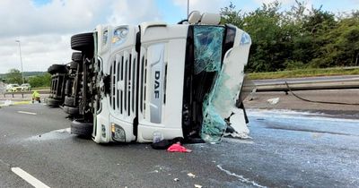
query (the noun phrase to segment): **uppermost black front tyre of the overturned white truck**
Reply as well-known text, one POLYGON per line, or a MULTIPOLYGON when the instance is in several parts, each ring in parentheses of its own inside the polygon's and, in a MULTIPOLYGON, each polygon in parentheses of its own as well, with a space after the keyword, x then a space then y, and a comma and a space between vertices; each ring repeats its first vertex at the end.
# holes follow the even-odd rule
POLYGON ((93 33, 81 33, 71 37, 71 48, 78 51, 93 51, 93 33))

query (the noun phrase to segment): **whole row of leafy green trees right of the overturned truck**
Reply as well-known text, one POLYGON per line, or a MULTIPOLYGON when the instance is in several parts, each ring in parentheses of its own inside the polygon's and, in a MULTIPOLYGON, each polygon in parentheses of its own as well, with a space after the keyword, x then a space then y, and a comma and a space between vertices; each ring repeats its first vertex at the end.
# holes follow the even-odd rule
POLYGON ((288 11, 275 1, 250 13, 230 4, 220 13, 250 34, 250 72, 359 65, 359 11, 338 17, 296 0, 288 11))

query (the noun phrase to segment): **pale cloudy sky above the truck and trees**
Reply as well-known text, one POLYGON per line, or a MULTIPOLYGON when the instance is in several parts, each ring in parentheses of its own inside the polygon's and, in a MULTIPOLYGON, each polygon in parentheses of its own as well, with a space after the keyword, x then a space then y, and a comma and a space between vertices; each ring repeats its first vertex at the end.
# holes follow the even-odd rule
MULTIPOLYGON (((189 0, 189 11, 218 13, 232 2, 244 12, 274 0, 189 0)), ((187 0, 0 0, 0 73, 12 68, 47 71, 51 64, 71 62, 72 35, 98 24, 176 23, 186 18, 187 0)), ((294 0, 279 0, 289 7, 294 0)), ((359 0, 304 0, 308 7, 331 12, 359 10, 359 0)))

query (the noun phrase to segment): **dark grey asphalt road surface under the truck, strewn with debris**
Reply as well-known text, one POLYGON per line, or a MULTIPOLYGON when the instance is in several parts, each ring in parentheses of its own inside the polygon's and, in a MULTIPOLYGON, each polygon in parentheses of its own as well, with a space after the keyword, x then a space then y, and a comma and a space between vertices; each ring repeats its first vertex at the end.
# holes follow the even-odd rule
POLYGON ((248 113, 252 139, 169 153, 148 144, 100 145, 78 138, 67 132, 70 121, 60 108, 3 107, 0 187, 31 187, 12 167, 49 187, 359 186, 357 120, 281 110, 248 113))

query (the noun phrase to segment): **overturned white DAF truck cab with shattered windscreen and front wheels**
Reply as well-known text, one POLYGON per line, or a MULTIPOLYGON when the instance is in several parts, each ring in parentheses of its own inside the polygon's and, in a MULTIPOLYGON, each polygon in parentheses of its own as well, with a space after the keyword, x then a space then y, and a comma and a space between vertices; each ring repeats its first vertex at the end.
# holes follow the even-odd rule
POLYGON ((193 12, 173 25, 100 25, 74 35, 81 61, 71 132, 98 143, 220 141, 228 127, 246 135, 241 88, 251 40, 219 22, 218 14, 193 12))

